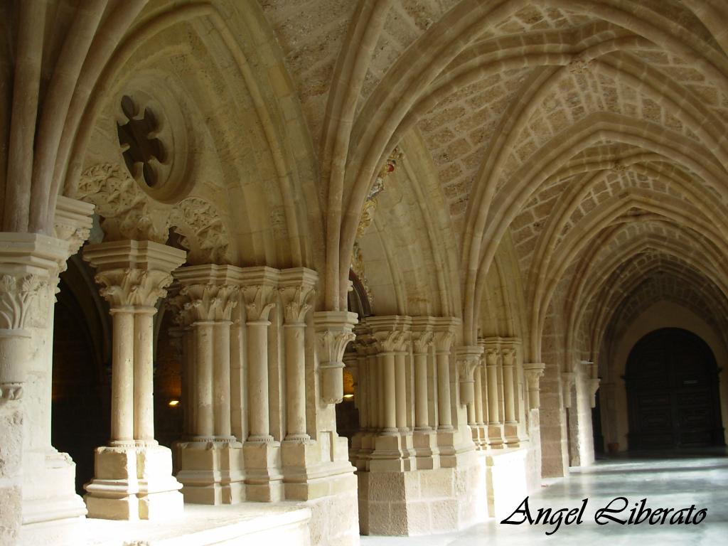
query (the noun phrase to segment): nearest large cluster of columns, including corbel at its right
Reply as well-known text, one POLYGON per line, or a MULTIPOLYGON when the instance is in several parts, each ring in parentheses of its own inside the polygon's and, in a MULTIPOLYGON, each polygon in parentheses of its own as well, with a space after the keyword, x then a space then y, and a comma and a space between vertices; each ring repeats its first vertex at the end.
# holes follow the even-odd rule
POLYGON ((317 274, 306 268, 207 264, 174 277, 185 371, 177 478, 186 502, 306 500, 331 491, 327 475, 353 478, 346 439, 325 414, 341 401, 355 314, 310 312, 317 274))

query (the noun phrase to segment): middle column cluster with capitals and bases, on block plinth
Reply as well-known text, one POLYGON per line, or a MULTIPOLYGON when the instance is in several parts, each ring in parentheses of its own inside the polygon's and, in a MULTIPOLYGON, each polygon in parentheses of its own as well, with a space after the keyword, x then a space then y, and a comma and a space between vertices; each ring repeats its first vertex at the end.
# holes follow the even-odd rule
POLYGON ((345 357, 355 377, 360 430, 350 456, 358 470, 451 466, 456 411, 451 397, 449 317, 367 317, 345 357), (454 419, 455 415, 455 419, 454 419))

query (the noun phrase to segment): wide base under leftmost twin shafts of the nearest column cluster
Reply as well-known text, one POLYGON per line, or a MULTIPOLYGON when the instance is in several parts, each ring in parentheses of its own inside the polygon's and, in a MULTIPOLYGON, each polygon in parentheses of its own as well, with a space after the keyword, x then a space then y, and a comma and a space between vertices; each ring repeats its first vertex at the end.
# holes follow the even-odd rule
POLYGON ((245 501, 240 442, 180 442, 175 448, 184 502, 234 505, 245 501))

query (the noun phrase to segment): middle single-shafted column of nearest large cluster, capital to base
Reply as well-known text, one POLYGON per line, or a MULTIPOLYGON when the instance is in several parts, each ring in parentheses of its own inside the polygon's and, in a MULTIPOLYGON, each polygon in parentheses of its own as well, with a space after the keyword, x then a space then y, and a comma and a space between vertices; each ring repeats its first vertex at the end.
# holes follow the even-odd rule
POLYGON ((248 339, 248 441, 243 444, 248 500, 283 498, 280 441, 270 433, 268 327, 276 305, 280 272, 270 267, 243 269, 242 296, 248 339))

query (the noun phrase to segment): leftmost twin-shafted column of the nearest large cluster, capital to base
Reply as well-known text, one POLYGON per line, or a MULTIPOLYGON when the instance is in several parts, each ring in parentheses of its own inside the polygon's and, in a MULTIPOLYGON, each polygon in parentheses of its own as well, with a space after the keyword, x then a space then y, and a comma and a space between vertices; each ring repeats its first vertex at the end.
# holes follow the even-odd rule
POLYGON ((177 479, 185 502, 234 504, 245 499, 242 444, 232 435, 230 404, 230 325, 242 269, 206 264, 174 275, 186 298, 181 320, 190 325, 194 361, 188 384, 194 419, 187 441, 178 443, 177 479))

